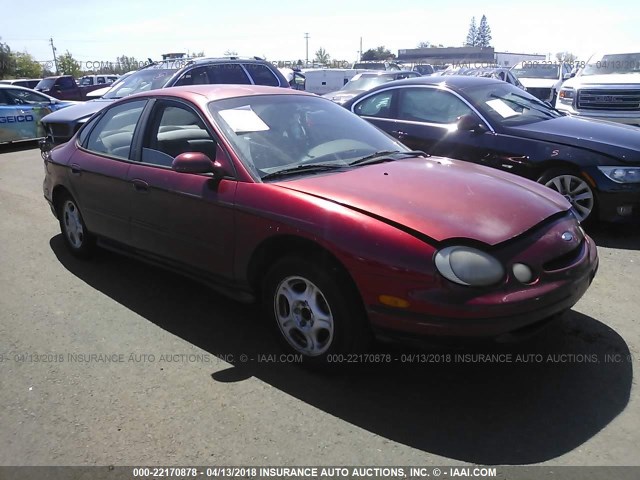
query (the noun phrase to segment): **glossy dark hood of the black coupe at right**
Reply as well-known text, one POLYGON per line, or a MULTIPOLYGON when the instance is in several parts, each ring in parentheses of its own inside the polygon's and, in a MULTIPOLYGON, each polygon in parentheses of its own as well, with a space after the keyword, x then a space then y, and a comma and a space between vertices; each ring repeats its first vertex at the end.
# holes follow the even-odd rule
POLYGON ((507 131, 519 137, 591 150, 623 162, 640 163, 640 128, 630 125, 565 116, 510 127, 507 131))

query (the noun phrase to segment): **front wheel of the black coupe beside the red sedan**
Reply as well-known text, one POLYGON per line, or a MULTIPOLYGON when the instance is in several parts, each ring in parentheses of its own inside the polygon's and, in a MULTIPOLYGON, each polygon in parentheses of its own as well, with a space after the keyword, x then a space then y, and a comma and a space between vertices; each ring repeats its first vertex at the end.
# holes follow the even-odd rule
POLYGON ((598 200, 596 192, 578 172, 566 168, 552 168, 542 174, 538 179, 538 183, 557 191, 567 198, 581 223, 589 224, 597 219, 598 200), (566 191, 567 179, 570 186, 569 191, 566 191), (583 195, 590 197, 590 200, 589 198, 582 198, 583 195))

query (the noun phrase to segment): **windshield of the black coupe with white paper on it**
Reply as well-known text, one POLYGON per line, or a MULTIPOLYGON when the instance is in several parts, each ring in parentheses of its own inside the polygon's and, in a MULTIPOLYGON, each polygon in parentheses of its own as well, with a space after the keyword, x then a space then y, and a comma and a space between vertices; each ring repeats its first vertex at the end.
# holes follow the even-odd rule
POLYGON ((533 95, 508 83, 492 83, 465 90, 475 107, 493 122, 507 127, 561 117, 533 95))

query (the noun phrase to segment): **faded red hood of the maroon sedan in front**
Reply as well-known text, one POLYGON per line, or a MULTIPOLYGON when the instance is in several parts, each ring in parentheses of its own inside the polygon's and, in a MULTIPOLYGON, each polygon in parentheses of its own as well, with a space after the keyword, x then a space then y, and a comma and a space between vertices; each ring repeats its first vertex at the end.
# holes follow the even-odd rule
POLYGON ((555 191, 516 175, 439 157, 365 165, 280 181, 441 242, 496 245, 570 208, 555 191))

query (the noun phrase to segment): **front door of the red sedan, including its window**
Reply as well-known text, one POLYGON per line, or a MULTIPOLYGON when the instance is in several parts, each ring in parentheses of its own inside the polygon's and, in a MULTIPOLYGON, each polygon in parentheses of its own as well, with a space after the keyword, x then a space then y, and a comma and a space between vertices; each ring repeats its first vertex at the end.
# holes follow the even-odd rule
POLYGON ((179 173, 176 156, 202 152, 230 165, 202 117, 182 102, 158 100, 143 137, 140 162, 128 173, 132 244, 139 250, 215 277, 233 276, 237 182, 179 173))

